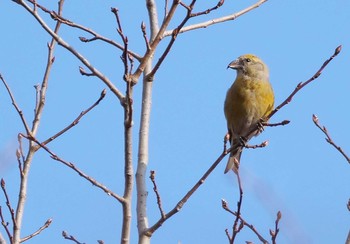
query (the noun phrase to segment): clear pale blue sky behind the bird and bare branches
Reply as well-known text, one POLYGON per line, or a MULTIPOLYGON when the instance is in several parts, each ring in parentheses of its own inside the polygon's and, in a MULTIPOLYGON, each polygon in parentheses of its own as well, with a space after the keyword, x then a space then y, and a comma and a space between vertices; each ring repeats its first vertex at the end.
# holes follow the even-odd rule
MULTIPOLYGON (((39 1, 56 9, 55 1, 39 1)), ((188 1, 187 1, 188 2, 188 1)), ((235 13, 254 1, 227 0, 219 10, 191 19, 194 24, 235 13)), ((215 1, 198 1, 204 10, 215 1)), ((120 11, 129 47, 143 54, 140 30, 148 25, 144 1, 69 1, 64 17, 120 42, 110 7, 120 11)), ((164 1, 157 1, 163 16, 164 1)), ((170 28, 185 11, 179 7, 170 28)), ((284 127, 267 128, 251 144, 269 141, 264 149, 245 150, 241 161, 244 189, 242 216, 268 240, 277 211, 282 212, 278 243, 344 243, 350 227, 346 203, 350 197, 350 165, 325 140, 312 122, 317 114, 334 141, 350 154, 349 15, 346 0, 270 0, 235 21, 179 35, 154 81, 150 127, 149 170, 166 211, 171 210, 222 152, 226 133, 223 102, 235 79, 227 64, 245 53, 261 57, 270 68, 270 80, 280 104, 301 82, 309 79, 342 44, 343 49, 323 74, 298 93, 271 122, 288 119, 284 127)), ((45 16, 42 13, 43 16, 45 16)), ((44 17, 50 26, 53 21, 44 17)), ((7 80, 24 115, 31 123, 34 85, 41 83, 51 39, 34 18, 13 1, 0 2, 0 73, 7 80)), ((102 43, 82 44, 89 35, 62 26, 61 35, 124 91, 121 52, 102 43)), ((156 58, 165 43, 159 46, 156 58)), ((37 138, 45 140, 71 123, 105 88, 94 77, 82 77, 81 63, 61 47, 55 52, 46 107, 37 138)), ((134 94, 134 166, 142 84, 134 94)), ((18 196, 19 173, 15 157, 17 135, 24 132, 4 86, 0 86, 0 177, 6 181, 11 202, 18 196)), ((108 91, 106 98, 68 133, 49 144, 50 149, 118 194, 123 192, 123 112, 108 91)), ((223 174, 226 158, 183 209, 152 237, 152 243, 227 243, 234 217, 221 207, 221 199, 234 210, 238 186, 233 173, 223 174)), ((136 169, 136 168, 135 168, 136 169)), ((159 219, 155 194, 148 180, 148 214, 159 219)), ((134 193, 135 197, 135 193, 134 193)), ((7 213, 3 194, 0 205, 7 213)), ((135 209, 135 198, 133 209, 135 209)), ((134 220, 136 212, 133 211, 134 220)), ((27 243, 67 243, 63 230, 85 243, 120 242, 121 206, 91 186, 71 169, 39 151, 34 158, 24 214, 22 236, 37 230, 48 218, 51 226, 27 243)), ((5 236, 4 229, 0 232, 5 236)), ((131 243, 137 243, 136 221, 131 243)), ((244 228, 237 243, 259 243, 244 228)))

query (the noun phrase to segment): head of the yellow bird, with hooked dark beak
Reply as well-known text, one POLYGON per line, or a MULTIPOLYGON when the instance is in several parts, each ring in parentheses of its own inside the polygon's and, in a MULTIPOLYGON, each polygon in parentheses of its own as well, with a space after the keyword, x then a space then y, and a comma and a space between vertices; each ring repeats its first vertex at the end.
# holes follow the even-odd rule
POLYGON ((237 70, 237 75, 268 79, 269 69, 267 65, 253 54, 245 54, 232 61, 227 68, 237 70))

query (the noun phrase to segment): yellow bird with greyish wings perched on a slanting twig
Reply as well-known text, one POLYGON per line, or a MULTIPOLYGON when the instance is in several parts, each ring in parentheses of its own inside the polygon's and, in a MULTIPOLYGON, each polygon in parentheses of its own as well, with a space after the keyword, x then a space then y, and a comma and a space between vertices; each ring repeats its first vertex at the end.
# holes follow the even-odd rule
POLYGON ((231 147, 234 148, 225 173, 231 169, 237 173, 244 143, 253 136, 247 134, 272 111, 275 99, 269 69, 257 56, 240 56, 227 68, 235 69, 237 77, 227 91, 224 106, 231 147))

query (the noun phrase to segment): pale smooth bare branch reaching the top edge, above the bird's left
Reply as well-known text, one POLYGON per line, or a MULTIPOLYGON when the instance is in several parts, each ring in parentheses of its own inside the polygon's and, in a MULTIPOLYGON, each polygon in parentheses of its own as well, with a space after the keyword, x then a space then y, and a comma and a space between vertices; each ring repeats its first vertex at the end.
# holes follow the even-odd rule
MULTIPOLYGON (((224 16, 224 17, 220 17, 220 18, 216 18, 216 19, 212 19, 212 20, 209 20, 209 21, 206 21, 206 22, 202 22, 202 23, 185 26, 185 27, 183 27, 180 30, 179 34, 187 32, 187 31, 191 31, 191 30, 200 29, 200 28, 207 28, 208 26, 215 25, 215 24, 222 23, 222 22, 235 20, 238 17, 240 17, 240 16, 250 12, 251 10, 253 10, 253 9, 257 8, 257 7, 259 7, 260 5, 262 5, 265 2, 267 2, 267 0, 260 0, 257 3, 251 5, 248 8, 245 8, 245 9, 243 9, 243 10, 237 12, 237 13, 230 14, 230 15, 227 15, 227 16, 224 16)), ((174 30, 168 30, 168 31, 164 32, 164 35, 162 36, 162 38, 164 38, 166 36, 171 36, 173 31, 174 30)))

